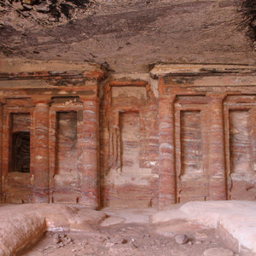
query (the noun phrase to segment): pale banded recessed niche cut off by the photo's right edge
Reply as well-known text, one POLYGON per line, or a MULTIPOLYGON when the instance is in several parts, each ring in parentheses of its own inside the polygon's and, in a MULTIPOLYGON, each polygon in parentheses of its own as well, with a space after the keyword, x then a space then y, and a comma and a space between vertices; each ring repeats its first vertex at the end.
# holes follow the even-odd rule
POLYGON ((255 200, 253 107, 230 109, 230 199, 255 200))

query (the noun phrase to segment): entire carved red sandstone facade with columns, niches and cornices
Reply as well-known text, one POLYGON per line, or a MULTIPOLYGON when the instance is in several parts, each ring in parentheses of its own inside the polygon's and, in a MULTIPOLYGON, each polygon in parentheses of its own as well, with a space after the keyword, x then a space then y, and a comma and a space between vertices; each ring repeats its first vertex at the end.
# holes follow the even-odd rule
POLYGON ((1 73, 2 201, 255 200, 255 67, 160 65, 158 91, 143 74, 45 68, 1 73))

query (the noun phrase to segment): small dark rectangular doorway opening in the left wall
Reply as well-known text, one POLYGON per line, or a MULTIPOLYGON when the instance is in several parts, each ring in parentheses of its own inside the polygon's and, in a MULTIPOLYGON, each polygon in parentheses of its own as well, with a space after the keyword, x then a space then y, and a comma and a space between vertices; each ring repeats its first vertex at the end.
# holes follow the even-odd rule
POLYGON ((16 131, 13 133, 11 172, 30 172, 29 131, 16 131))

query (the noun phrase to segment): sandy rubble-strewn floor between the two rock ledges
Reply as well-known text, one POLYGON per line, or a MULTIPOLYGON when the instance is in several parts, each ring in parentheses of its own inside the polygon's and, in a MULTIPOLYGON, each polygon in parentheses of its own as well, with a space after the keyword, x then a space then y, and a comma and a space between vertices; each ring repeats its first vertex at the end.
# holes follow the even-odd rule
POLYGON ((147 219, 147 214, 140 217, 138 214, 114 212, 109 221, 108 218, 105 220, 107 226, 86 232, 47 232, 36 245, 20 255, 197 256, 203 255, 207 248, 225 247, 214 229, 184 219, 157 225, 148 224, 147 219), (114 224, 116 222, 120 223, 114 224), (185 234, 189 242, 177 244, 177 234, 185 234))

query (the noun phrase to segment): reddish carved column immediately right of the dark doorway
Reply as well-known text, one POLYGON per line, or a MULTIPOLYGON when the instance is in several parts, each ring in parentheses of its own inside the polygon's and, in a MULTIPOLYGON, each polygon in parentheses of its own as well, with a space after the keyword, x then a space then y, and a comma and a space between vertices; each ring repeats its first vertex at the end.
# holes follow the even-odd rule
POLYGON ((49 202, 49 104, 34 111, 34 202, 49 202))

